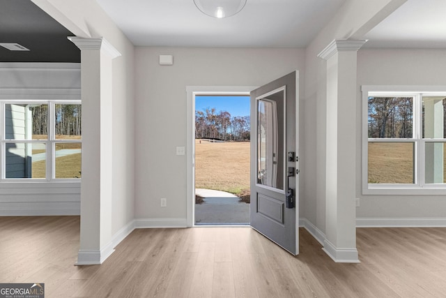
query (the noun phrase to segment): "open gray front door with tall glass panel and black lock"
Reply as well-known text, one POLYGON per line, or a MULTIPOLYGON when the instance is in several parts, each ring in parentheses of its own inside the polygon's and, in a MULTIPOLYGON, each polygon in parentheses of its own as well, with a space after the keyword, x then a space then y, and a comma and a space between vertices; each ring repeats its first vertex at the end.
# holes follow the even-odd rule
POLYGON ((251 226, 297 255, 297 71, 251 92, 251 119, 251 226))

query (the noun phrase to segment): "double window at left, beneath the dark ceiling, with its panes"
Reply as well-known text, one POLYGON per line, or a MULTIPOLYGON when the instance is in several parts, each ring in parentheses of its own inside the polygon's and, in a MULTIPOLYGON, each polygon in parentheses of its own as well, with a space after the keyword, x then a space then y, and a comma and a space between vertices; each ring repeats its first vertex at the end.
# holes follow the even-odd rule
POLYGON ((80 100, 1 100, 1 180, 79 179, 80 100))

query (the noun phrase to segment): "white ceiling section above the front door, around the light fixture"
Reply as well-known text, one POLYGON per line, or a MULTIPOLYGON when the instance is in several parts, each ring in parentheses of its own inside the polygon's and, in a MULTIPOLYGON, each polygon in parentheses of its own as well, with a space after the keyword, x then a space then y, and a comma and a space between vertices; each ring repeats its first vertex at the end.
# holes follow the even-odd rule
MULTIPOLYGON (((305 47, 344 0, 247 0, 225 19, 193 0, 97 0, 134 45, 305 47)), ((446 0, 445 0, 446 1, 446 0)))

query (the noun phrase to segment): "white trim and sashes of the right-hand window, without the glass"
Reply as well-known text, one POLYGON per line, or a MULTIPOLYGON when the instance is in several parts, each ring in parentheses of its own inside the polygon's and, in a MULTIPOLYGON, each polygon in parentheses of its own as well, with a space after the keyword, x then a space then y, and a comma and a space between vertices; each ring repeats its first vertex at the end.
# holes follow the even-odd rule
MULTIPOLYGON (((383 86, 383 85, 363 85, 362 91, 362 194, 363 195, 444 195, 446 184, 424 184, 424 143, 435 142, 436 139, 422 139, 422 136, 417 135, 420 131, 415 130, 415 134, 411 139, 374 139, 374 142, 415 142, 415 172, 418 172, 418 179, 415 184, 369 184, 368 183, 368 97, 369 93, 374 95, 388 95, 394 96, 420 96, 421 94, 429 94, 431 96, 445 96, 446 86, 383 86), (420 167, 418 170, 417 167, 420 167)), ((417 100, 419 103, 414 105, 414 127, 420 126, 420 119, 422 117, 422 100, 417 100)), ((438 140, 438 139, 437 139, 438 140)), ((444 139, 440 139, 444 141, 444 139)))

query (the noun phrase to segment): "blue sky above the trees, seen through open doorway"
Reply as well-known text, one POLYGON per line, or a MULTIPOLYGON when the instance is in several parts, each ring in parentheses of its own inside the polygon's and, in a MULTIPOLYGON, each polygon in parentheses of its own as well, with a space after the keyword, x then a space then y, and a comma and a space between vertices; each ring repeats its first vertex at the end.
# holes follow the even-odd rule
POLYGON ((226 111, 231 117, 249 116, 249 96, 195 96, 195 110, 215 107, 215 114, 226 111))

